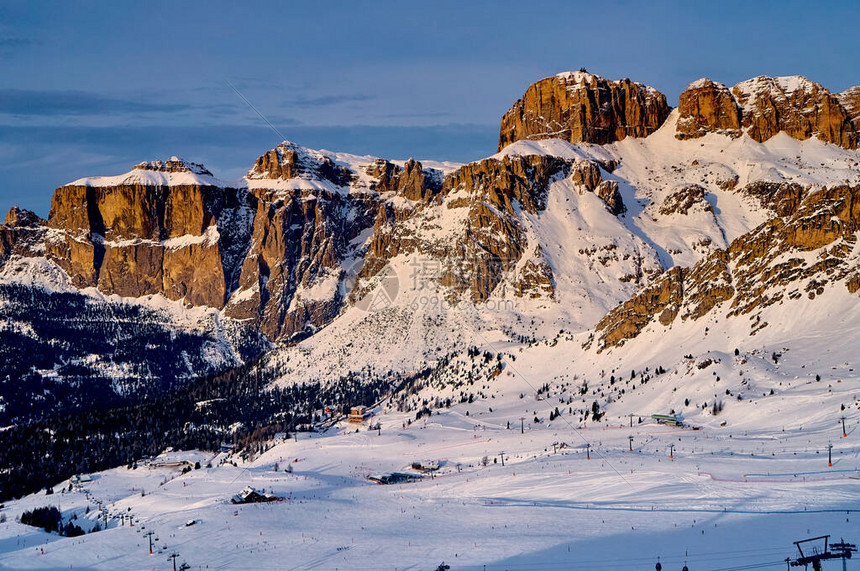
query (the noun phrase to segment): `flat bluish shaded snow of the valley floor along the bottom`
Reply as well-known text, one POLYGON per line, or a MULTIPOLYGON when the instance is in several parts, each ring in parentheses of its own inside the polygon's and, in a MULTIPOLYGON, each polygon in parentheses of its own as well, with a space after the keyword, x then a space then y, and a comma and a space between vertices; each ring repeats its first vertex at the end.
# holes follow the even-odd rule
MULTIPOLYGON (((545 405, 529 398, 530 409, 545 405)), ((691 571, 777 569, 800 539, 860 542, 856 419, 846 438, 831 423, 783 432, 763 422, 739 431, 609 421, 575 430, 529 418, 521 433, 523 401, 493 404, 482 414, 486 401, 456 405, 405 428, 413 415, 380 413, 380 434, 343 423, 238 467, 220 464, 223 454, 173 452, 157 462, 200 461, 201 469, 141 465, 94 474, 68 493, 60 493, 68 482, 58 484, 52 496, 3 509, 0 568, 171 569, 168 556, 178 553, 191 569, 435 569, 444 561, 451 569, 645 570, 658 557, 667 571, 685 562, 691 571), (419 482, 365 479, 428 460, 441 468, 419 482), (247 485, 285 501, 232 505, 247 485), (107 530, 61 538, 15 522, 25 509, 57 505, 86 529, 104 517, 97 502, 136 524, 109 519, 107 530)))

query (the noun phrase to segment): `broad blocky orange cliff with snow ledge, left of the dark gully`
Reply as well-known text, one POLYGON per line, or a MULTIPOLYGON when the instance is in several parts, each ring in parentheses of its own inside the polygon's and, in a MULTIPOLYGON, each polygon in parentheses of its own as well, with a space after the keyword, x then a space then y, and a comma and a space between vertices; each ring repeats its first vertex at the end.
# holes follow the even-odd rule
POLYGON ((60 187, 51 201, 46 254, 79 287, 222 307, 249 226, 236 213, 252 212, 252 197, 210 184, 136 179, 135 171, 209 175, 174 158, 137 165, 128 183, 60 187))

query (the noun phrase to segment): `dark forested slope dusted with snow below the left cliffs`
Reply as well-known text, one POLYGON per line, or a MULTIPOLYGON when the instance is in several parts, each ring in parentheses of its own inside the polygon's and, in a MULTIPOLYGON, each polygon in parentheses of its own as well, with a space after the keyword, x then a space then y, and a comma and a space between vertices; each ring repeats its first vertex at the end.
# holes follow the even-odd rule
POLYGON ((78 290, 44 258, 0 270, 0 425, 153 397, 270 348, 255 331, 160 295, 78 290))

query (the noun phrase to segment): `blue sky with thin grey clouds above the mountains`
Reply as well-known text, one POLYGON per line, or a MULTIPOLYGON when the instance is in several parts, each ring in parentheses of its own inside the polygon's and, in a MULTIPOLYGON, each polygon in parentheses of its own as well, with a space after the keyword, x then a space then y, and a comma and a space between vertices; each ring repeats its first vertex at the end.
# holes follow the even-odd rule
MULTIPOLYGON (((533 81, 586 67, 671 104, 707 76, 860 83, 860 2, 0 4, 0 211, 172 154, 236 178, 278 136, 474 160, 533 81)), ((2 213, 0 213, 2 214, 2 213)))

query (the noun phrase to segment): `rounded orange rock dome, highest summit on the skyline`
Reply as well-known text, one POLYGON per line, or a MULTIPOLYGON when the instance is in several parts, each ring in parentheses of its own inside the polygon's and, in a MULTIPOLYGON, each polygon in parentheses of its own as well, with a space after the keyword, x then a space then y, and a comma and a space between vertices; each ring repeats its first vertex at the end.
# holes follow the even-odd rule
POLYGON ((629 79, 567 72, 533 83, 502 117, 499 150, 520 139, 612 143, 646 137, 669 115, 666 96, 629 79))

